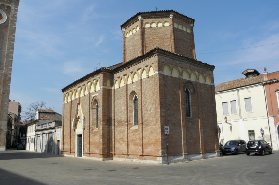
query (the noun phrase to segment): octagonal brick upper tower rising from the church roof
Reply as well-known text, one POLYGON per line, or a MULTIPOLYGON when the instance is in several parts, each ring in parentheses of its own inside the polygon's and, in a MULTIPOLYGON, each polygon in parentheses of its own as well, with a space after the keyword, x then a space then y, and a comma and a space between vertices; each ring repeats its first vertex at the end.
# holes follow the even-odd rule
POLYGON ((123 63, 155 47, 196 59, 194 19, 174 10, 138 12, 121 25, 123 63))

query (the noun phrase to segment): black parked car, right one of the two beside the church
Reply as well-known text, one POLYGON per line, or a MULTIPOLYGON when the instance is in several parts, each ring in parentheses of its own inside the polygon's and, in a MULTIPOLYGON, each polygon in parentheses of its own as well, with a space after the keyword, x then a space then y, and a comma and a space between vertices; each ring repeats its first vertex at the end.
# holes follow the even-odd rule
POLYGON ((251 140, 248 141, 246 146, 246 155, 250 155, 250 153, 265 155, 265 152, 272 154, 272 148, 264 140, 251 140))

